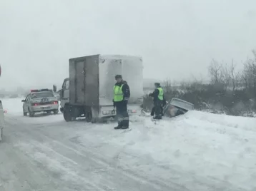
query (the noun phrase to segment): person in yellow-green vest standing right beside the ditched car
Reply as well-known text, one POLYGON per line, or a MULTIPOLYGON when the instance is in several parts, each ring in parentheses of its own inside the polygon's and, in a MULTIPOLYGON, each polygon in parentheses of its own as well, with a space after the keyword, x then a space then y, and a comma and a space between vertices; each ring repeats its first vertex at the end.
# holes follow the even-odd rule
POLYGON ((153 93, 149 93, 150 97, 153 97, 154 108, 152 108, 151 115, 154 115, 154 119, 162 119, 163 108, 162 106, 165 103, 164 100, 164 90, 160 86, 160 83, 154 83, 155 89, 153 93))

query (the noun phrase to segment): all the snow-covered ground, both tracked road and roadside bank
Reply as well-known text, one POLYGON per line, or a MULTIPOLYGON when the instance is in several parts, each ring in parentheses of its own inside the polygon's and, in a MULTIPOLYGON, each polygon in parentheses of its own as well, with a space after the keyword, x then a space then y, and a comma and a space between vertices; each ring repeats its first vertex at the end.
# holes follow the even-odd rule
POLYGON ((256 190, 256 119, 189 112, 155 125, 132 118, 66 123, 62 115, 8 113, 0 143, 0 190, 256 190))

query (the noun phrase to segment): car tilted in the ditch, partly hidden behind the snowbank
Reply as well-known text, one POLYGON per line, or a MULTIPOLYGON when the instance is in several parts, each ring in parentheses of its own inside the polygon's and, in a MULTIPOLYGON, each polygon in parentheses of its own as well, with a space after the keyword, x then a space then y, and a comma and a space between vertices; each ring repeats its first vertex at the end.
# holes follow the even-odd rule
POLYGON ((172 98, 172 100, 165 105, 163 113, 167 117, 176 117, 178 115, 183 115, 189 110, 194 110, 194 105, 185 100, 178 98, 172 98))

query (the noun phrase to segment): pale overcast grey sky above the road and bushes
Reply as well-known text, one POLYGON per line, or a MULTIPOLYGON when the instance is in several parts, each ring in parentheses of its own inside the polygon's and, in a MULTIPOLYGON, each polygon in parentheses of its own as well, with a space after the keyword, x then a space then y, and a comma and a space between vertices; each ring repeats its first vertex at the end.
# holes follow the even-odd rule
POLYGON ((0 88, 60 85, 68 59, 141 55, 144 78, 207 78, 256 48, 255 0, 0 0, 0 88))

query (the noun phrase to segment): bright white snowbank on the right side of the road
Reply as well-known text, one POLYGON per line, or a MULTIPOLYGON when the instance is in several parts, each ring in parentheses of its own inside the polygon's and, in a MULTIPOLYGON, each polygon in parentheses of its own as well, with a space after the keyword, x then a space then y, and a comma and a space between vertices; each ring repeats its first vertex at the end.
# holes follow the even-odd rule
POLYGON ((132 131, 120 133, 110 125, 98 125, 77 137, 107 158, 118 156, 127 167, 141 167, 141 172, 153 164, 187 172, 192 180, 180 177, 181 183, 197 177, 245 190, 256 188, 255 118, 191 111, 157 125, 138 117, 131 127, 132 131))

